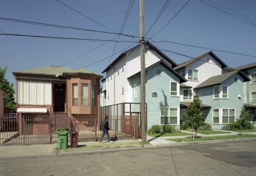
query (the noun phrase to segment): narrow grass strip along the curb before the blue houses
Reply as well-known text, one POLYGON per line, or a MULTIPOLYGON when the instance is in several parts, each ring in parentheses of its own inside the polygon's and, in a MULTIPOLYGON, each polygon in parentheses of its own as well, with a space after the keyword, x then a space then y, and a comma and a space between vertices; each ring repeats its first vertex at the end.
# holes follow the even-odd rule
POLYGON ((230 136, 209 136, 209 137, 197 137, 197 139, 193 140, 189 138, 179 138, 179 139, 170 139, 170 141, 175 142, 189 142, 189 141, 208 141, 208 140, 227 140, 227 139, 236 139, 236 138, 255 138, 256 135, 253 134, 246 134, 245 136, 240 135, 230 135, 230 136))

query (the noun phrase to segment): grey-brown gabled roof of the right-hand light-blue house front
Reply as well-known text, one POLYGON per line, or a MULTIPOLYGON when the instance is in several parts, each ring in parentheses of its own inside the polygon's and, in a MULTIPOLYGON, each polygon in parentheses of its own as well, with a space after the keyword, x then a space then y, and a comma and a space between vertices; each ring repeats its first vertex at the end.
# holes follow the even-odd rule
POLYGON ((210 77, 209 79, 205 80, 203 83, 196 86, 194 89, 221 84, 224 81, 226 81, 228 78, 230 78, 231 76, 234 76, 235 74, 239 74, 241 77, 243 77, 244 82, 251 81, 251 79, 248 76, 246 76, 243 72, 235 70, 232 72, 228 72, 226 74, 221 74, 218 76, 210 77))

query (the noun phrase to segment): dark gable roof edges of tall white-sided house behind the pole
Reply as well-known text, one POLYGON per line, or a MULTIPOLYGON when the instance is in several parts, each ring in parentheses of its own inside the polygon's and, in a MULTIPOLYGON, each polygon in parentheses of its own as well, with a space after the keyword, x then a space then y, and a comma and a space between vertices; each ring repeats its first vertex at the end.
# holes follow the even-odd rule
MULTIPOLYGON (((160 56, 162 56, 164 59, 166 59, 167 61, 169 61, 170 63, 172 63, 173 67, 177 66, 177 63, 175 63, 175 61, 171 60, 168 56, 166 56, 162 51, 160 51, 159 49, 157 49, 157 47, 155 47, 153 44, 151 44, 150 42, 146 41, 145 42, 146 45, 148 45, 148 47, 154 51, 156 51, 160 56)), ((140 47, 140 45, 137 45, 136 47, 140 47)), ((103 74, 104 72, 106 72, 111 66, 113 66, 118 60, 120 60, 120 58, 122 58, 127 52, 132 51, 133 49, 135 49, 136 47, 132 47, 131 49, 122 52, 122 54, 120 54, 111 64, 109 64, 109 66, 107 68, 105 68, 105 70, 103 70, 101 73, 103 74)))

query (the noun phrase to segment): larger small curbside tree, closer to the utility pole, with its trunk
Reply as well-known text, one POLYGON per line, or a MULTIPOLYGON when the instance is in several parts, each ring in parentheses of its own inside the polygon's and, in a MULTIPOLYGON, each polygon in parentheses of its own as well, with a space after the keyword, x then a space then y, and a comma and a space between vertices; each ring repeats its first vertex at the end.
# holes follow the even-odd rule
POLYGON ((187 113, 184 114, 186 124, 193 129, 193 139, 195 139, 194 132, 197 131, 201 123, 204 122, 204 111, 200 106, 202 100, 199 99, 198 95, 194 96, 193 102, 188 106, 187 113))

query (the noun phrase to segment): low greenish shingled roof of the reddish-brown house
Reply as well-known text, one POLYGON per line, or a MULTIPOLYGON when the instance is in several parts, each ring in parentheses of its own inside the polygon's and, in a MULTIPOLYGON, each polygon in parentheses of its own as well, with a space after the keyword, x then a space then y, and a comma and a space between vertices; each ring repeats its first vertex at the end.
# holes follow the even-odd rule
POLYGON ((48 66, 41 68, 33 68, 28 70, 20 70, 17 72, 13 72, 13 74, 37 74, 37 75, 56 75, 62 76, 63 72, 72 72, 73 70, 67 67, 56 67, 56 66, 48 66))

